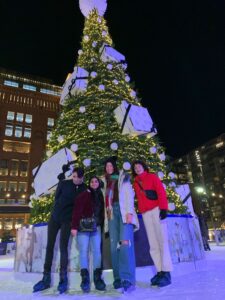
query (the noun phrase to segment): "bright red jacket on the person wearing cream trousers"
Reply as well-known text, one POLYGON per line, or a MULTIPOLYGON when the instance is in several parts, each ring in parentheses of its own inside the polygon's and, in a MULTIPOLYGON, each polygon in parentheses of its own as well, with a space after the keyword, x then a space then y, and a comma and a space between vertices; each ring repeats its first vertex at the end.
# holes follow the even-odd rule
POLYGON ((137 175, 134 179, 133 187, 138 200, 138 210, 140 213, 152 210, 157 206, 160 209, 168 209, 166 191, 162 185, 161 180, 155 174, 148 173, 147 171, 145 171, 141 175, 137 175), (138 182, 140 182, 144 190, 155 191, 157 193, 158 199, 149 200, 145 196, 144 191, 140 188, 138 182))

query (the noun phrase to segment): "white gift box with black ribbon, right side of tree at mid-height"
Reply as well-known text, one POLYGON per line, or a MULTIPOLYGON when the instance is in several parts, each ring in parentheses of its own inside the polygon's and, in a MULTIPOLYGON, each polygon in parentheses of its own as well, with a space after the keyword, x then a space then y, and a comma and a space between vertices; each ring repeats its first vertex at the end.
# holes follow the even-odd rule
POLYGON ((123 100, 114 110, 117 122, 121 125, 122 134, 134 136, 148 134, 150 137, 157 134, 147 108, 128 104, 123 100))

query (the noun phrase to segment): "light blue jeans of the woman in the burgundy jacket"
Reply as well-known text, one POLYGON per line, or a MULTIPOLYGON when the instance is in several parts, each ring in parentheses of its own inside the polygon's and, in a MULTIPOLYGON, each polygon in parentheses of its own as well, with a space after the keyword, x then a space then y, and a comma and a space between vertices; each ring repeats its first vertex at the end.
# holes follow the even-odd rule
POLYGON ((101 268, 101 227, 97 227, 95 232, 79 232, 77 233, 77 243, 80 254, 80 268, 89 269, 88 257, 89 246, 93 255, 93 269, 101 268))

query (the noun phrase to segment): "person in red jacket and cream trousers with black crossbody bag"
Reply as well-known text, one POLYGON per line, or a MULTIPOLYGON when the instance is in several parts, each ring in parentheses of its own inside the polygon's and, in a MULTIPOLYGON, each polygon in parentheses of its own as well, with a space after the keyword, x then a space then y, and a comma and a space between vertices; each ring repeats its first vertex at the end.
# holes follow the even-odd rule
POLYGON ((133 162, 132 173, 138 209, 143 217, 150 255, 157 270, 157 274, 151 279, 151 285, 167 286, 171 284, 172 262, 166 224, 168 210, 166 191, 158 176, 149 173, 143 161, 133 162))

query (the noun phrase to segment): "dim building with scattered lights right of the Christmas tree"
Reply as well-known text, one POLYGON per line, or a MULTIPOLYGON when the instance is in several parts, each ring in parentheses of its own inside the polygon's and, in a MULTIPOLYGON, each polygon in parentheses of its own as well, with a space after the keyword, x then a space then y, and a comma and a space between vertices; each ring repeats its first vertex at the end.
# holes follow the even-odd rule
POLYGON ((179 183, 189 183, 195 210, 210 227, 225 223, 225 133, 172 162, 179 183))

